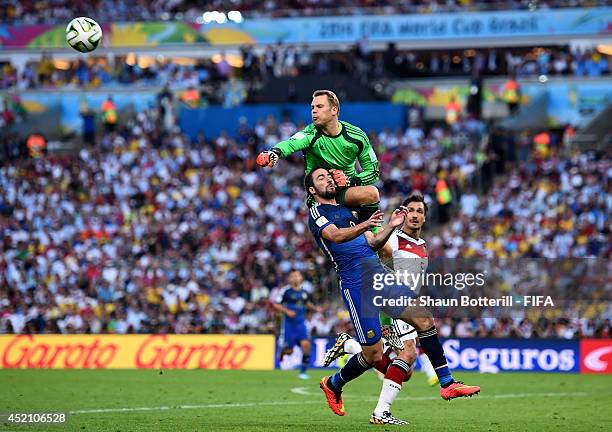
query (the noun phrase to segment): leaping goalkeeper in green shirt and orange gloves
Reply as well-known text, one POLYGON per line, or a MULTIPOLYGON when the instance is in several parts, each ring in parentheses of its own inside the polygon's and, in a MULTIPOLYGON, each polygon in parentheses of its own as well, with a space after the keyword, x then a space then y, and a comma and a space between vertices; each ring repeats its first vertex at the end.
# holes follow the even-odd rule
MULTIPOLYGON (((334 92, 317 90, 312 95, 312 123, 271 150, 257 156, 257 164, 272 167, 279 159, 302 151, 306 173, 314 167, 328 169, 338 185, 337 201, 367 220, 377 209, 380 195, 372 186, 379 178, 378 159, 368 136, 345 121, 338 120, 340 102, 334 92), (359 161, 361 172, 355 170, 359 161)), ((309 199, 308 206, 314 203, 309 199)))

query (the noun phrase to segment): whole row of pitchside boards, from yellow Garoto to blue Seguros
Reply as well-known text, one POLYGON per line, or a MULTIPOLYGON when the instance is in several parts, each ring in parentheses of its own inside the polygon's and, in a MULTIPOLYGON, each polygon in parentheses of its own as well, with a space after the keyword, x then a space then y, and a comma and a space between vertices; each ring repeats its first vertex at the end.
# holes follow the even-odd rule
MULTIPOLYGON (((310 367, 323 366, 333 338, 313 338, 310 367)), ((608 339, 446 339, 451 369, 612 373, 608 339)), ((0 368, 292 369, 296 347, 279 364, 272 335, 3 335, 0 368)), ((418 368, 418 367, 417 367, 418 368)))

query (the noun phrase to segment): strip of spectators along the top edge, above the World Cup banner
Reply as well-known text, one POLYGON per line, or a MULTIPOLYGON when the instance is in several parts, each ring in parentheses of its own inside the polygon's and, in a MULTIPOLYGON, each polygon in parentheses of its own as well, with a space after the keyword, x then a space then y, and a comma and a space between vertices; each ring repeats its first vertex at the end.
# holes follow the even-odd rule
POLYGON ((206 11, 238 10, 247 17, 281 17, 342 14, 392 14, 518 10, 605 6, 605 0, 0 0, 0 22, 56 24, 95 10, 101 22, 137 20, 195 21, 206 11))

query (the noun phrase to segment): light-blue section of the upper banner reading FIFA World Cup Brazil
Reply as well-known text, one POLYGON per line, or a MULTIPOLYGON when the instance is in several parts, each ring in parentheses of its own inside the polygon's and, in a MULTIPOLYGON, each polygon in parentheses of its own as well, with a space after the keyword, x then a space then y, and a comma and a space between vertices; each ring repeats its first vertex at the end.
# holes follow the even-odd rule
MULTIPOLYGON (((245 21, 257 43, 410 42, 610 33, 612 8, 317 17, 245 21)), ((209 28, 202 26, 202 31, 209 28)), ((208 30, 210 32, 211 30, 208 30)))

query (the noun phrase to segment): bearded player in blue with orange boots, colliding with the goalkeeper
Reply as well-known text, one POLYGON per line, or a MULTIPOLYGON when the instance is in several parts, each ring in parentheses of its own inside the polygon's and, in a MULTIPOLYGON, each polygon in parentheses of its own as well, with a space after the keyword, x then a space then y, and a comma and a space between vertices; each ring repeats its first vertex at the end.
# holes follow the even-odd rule
POLYGON ((478 393, 480 387, 467 386, 453 379, 431 313, 419 306, 406 307, 396 301, 389 301, 413 295, 412 291, 397 284, 383 284, 376 296, 373 291, 378 276, 386 275, 376 252, 387 243, 395 228, 404 223, 406 208, 395 210, 389 224, 373 234, 370 230, 383 221, 382 212, 377 211, 368 220, 359 223, 347 207, 336 202, 336 186, 328 170, 313 169, 306 175, 304 183, 306 191, 316 201, 310 210, 310 230, 321 250, 336 267, 342 297, 362 347, 362 352, 351 357, 338 373, 320 382, 332 411, 340 416, 345 414, 342 387, 383 359, 380 311, 392 318, 401 318, 417 329, 421 346, 442 386, 442 398, 452 399, 478 393), (374 301, 375 297, 387 301, 379 304, 374 301))

